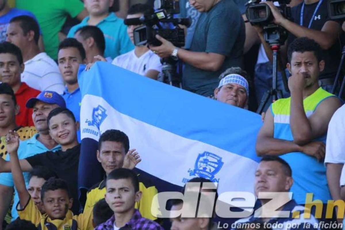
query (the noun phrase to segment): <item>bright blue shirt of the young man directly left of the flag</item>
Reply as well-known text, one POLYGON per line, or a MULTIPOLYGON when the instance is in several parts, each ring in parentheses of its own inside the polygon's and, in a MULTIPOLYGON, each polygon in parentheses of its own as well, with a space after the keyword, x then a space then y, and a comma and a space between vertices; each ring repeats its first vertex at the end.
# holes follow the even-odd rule
MULTIPOLYGON (((81 92, 80 89, 77 88, 73 92, 68 92, 67 88, 63 91, 62 94, 63 99, 66 102, 66 108, 71 110, 73 115, 76 118, 76 121, 80 123, 80 106, 81 106, 81 92)), ((80 129, 77 130, 77 138, 78 142, 80 143, 80 129)))

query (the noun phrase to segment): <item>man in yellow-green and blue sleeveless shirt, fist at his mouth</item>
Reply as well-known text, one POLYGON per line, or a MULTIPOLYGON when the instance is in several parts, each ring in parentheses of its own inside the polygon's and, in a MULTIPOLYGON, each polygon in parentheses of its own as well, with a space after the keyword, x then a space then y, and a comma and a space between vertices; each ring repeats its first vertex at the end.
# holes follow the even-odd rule
POLYGON ((332 199, 323 164, 325 141, 328 123, 341 101, 319 86, 325 62, 318 43, 297 38, 289 46, 288 59, 291 97, 277 100, 266 112, 256 151, 258 156, 284 159, 293 171, 293 198, 298 204, 321 200, 325 214, 325 204, 332 199), (306 197, 306 193, 313 193, 313 197, 306 197))

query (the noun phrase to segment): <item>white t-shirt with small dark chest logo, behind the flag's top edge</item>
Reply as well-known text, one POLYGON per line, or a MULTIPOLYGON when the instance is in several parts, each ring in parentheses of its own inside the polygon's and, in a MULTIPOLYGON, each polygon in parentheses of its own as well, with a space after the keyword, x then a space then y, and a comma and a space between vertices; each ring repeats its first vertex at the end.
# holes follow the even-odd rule
POLYGON ((151 50, 148 50, 139 58, 135 55, 134 50, 129 51, 128 53, 116 57, 112 61, 112 64, 143 76, 149 70, 162 71, 162 64, 160 63, 159 56, 151 50))

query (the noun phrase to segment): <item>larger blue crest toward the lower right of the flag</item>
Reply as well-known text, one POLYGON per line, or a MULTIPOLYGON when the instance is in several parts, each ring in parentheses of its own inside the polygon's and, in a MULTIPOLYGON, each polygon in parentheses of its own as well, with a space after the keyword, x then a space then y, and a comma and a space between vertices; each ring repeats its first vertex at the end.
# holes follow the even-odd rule
POLYGON ((194 169, 189 169, 189 176, 199 176, 211 180, 212 182, 219 182, 215 176, 223 167, 224 162, 221 157, 211 152, 200 153, 195 161, 194 169))

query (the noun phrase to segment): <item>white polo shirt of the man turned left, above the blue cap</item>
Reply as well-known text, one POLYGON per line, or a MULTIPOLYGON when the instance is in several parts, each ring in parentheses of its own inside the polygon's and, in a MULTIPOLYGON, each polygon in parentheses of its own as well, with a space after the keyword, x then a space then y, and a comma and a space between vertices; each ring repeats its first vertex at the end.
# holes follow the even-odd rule
POLYGON ((45 52, 27 60, 24 65, 22 82, 40 91, 51 90, 59 94, 63 93, 65 87, 58 65, 45 52))

